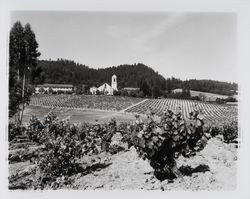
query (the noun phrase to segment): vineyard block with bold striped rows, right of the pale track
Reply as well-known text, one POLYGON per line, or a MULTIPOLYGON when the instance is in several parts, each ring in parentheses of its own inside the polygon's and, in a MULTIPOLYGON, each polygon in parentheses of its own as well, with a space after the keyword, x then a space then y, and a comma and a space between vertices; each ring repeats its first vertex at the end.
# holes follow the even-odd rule
POLYGON ((148 99, 125 111, 138 114, 146 114, 151 111, 158 116, 162 116, 166 109, 176 110, 178 107, 181 108, 185 118, 194 109, 200 109, 204 112, 205 120, 208 122, 226 123, 237 120, 237 106, 180 99, 148 99))

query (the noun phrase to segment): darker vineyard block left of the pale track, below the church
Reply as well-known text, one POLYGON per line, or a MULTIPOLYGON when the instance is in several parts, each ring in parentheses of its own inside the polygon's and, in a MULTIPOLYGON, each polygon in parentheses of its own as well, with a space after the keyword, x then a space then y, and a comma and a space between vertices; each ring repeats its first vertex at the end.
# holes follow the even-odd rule
POLYGON ((32 96, 30 105, 60 107, 60 108, 86 108, 120 111, 143 99, 132 97, 112 97, 95 95, 37 95, 32 96))

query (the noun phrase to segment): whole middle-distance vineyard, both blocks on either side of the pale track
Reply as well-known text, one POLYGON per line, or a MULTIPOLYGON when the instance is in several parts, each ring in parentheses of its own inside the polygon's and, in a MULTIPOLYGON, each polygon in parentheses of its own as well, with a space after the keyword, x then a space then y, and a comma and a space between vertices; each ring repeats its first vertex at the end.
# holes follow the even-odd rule
POLYGON ((237 120, 237 106, 197 102, 181 99, 146 99, 133 97, 93 95, 38 95, 31 97, 30 105, 58 108, 101 109, 147 114, 161 117, 166 109, 181 108, 184 118, 195 109, 202 110, 206 122, 227 123, 237 120))

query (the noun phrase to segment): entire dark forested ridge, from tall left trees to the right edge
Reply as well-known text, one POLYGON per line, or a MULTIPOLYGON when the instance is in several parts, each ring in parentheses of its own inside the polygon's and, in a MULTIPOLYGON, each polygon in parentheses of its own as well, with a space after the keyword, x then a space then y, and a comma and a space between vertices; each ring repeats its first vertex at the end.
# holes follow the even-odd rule
POLYGON ((190 90, 211 92, 216 94, 235 94, 236 83, 227 83, 214 80, 187 80, 176 78, 165 79, 152 68, 138 63, 133 65, 120 65, 117 67, 93 69, 74 61, 58 59, 57 61, 38 61, 38 70, 33 83, 57 84, 86 84, 99 86, 104 82, 111 83, 111 76, 117 75, 118 88, 148 86, 150 90, 157 87, 160 91, 170 92, 175 88, 188 88, 190 90))

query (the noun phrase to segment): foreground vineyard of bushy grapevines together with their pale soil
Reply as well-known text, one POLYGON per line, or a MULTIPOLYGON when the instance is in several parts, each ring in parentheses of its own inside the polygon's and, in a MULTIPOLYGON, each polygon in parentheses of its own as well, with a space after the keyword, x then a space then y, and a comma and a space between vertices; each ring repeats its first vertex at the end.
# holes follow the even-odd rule
POLYGON ((235 189, 237 123, 205 127, 202 112, 189 116, 71 124, 50 112, 9 123, 9 189, 235 189))

